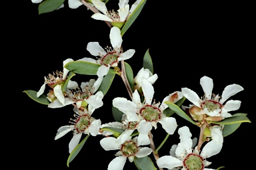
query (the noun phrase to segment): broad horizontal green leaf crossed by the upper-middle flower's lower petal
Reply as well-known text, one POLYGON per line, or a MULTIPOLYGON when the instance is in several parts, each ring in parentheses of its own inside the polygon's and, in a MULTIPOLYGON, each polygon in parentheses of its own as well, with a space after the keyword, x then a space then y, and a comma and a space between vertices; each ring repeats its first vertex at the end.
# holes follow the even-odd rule
MULTIPOLYGON (((97 70, 100 66, 100 64, 79 60, 67 62, 64 67, 67 68, 67 70, 77 74, 97 75, 97 70)), ((113 69, 109 69, 109 73, 112 74, 117 72, 113 69)))

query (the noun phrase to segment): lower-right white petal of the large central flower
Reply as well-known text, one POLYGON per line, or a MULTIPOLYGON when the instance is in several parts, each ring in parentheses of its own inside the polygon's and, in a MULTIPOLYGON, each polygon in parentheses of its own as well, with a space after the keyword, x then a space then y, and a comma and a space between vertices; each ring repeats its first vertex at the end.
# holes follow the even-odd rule
POLYGON ((175 118, 163 118, 159 120, 159 123, 170 135, 173 135, 174 131, 177 129, 177 122, 175 118))

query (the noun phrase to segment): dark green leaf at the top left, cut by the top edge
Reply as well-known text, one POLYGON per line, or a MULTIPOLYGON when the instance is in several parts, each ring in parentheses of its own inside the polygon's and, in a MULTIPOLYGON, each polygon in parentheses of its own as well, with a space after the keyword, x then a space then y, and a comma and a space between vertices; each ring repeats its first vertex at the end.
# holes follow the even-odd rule
POLYGON ((41 13, 49 13, 58 9, 65 0, 45 0, 38 6, 39 15, 41 13))

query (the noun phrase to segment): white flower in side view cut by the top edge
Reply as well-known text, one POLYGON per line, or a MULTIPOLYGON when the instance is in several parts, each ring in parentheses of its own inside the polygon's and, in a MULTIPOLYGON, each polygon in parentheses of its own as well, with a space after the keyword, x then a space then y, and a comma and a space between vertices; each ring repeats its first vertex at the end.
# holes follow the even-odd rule
POLYGON ((117 10, 117 12, 115 12, 114 10, 108 11, 105 3, 101 2, 100 0, 92 0, 92 3, 99 11, 101 11, 101 13, 93 14, 91 16, 93 19, 109 21, 114 26, 121 28, 129 15, 131 15, 131 13, 133 13, 139 3, 141 3, 141 0, 135 1, 135 3, 133 3, 133 5, 131 6, 131 9, 129 9, 129 0, 120 0, 118 3, 119 9, 117 10), (115 23, 119 24, 115 25, 115 23))

